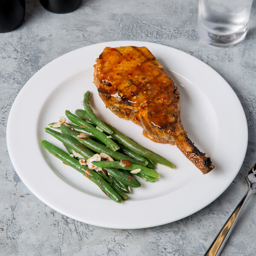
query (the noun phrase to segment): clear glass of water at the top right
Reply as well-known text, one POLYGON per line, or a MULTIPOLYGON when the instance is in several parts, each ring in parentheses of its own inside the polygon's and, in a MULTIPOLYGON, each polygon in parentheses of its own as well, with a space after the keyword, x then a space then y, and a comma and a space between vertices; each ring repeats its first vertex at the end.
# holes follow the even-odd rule
POLYGON ((198 34, 208 44, 229 47, 247 33, 253 0, 199 0, 198 34))

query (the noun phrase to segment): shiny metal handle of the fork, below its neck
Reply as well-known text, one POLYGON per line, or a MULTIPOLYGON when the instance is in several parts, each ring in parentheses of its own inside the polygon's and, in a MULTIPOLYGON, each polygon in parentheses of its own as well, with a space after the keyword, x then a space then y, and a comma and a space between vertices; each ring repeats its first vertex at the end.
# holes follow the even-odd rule
POLYGON ((253 189, 249 188, 240 201, 240 203, 237 205, 236 209, 233 211, 233 213, 228 218, 227 222, 222 227, 220 233, 216 236, 215 240, 212 242, 211 246, 207 250, 204 256, 218 256, 221 253, 222 248, 224 247, 224 244, 226 243, 228 237, 230 236, 230 233, 233 230, 233 227, 235 227, 236 221, 239 217, 239 214, 241 210, 244 208, 244 205, 250 198, 250 196, 253 194, 253 189))

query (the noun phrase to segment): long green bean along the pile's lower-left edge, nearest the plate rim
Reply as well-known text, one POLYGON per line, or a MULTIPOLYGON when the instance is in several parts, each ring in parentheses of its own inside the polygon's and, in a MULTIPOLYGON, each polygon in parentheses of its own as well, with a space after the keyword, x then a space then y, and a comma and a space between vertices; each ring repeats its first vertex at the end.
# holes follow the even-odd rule
POLYGON ((121 195, 118 192, 116 192, 113 186, 108 184, 99 174, 97 174, 93 170, 87 169, 85 166, 81 166, 79 161, 76 160, 74 157, 70 157, 69 154, 67 154, 60 148, 56 147, 55 145, 47 142, 46 140, 41 140, 40 142, 51 154, 58 157, 65 164, 72 166, 74 169, 79 171, 85 177, 93 181, 97 186, 99 186, 102 192, 104 192, 105 195, 107 195, 113 201, 117 203, 122 202, 121 195))

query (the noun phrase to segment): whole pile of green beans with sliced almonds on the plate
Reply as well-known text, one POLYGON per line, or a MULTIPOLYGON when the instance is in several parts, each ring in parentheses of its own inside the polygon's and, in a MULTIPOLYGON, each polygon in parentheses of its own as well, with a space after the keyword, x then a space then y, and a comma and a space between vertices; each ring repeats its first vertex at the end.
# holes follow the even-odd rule
POLYGON ((93 181, 113 201, 120 203, 127 200, 127 193, 131 192, 130 187, 141 186, 134 175, 145 181, 155 182, 160 177, 154 170, 156 163, 173 168, 172 163, 165 158, 142 147, 99 119, 90 107, 89 91, 84 93, 83 106, 84 110, 77 109, 75 114, 68 110, 65 112, 73 124, 64 123, 59 127, 54 127, 55 123, 49 124, 58 131, 45 128, 48 134, 63 143, 68 153, 46 140, 40 142, 63 163, 93 181), (82 137, 81 133, 84 133, 82 137), (113 160, 102 158, 101 161, 92 161, 92 169, 80 164, 79 160, 87 160, 97 153, 105 153, 113 160), (133 175, 131 172, 136 169, 137 173, 133 175))

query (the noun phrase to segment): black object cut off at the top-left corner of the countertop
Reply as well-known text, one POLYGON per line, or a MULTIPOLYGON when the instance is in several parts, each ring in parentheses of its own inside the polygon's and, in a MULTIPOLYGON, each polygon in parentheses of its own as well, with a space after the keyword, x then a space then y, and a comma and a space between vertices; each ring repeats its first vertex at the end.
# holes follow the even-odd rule
POLYGON ((0 0, 0 33, 17 29, 25 16, 25 0, 0 0))

